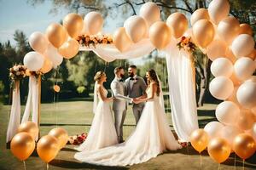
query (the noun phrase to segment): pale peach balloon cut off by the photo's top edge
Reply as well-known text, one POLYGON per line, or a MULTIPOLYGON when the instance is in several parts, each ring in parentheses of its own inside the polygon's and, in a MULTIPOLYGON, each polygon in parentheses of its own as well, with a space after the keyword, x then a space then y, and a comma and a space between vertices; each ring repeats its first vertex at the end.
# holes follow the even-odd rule
POLYGON ((213 0, 208 7, 208 13, 212 22, 218 25, 230 13, 230 3, 228 0, 213 0))

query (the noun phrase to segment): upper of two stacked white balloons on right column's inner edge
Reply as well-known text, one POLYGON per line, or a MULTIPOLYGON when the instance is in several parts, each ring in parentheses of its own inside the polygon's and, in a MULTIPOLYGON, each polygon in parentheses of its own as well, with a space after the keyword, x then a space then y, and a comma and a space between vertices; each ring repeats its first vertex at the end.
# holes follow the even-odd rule
POLYGON ((211 72, 214 77, 231 77, 233 73, 233 64, 230 59, 224 57, 214 59, 211 65, 211 72))

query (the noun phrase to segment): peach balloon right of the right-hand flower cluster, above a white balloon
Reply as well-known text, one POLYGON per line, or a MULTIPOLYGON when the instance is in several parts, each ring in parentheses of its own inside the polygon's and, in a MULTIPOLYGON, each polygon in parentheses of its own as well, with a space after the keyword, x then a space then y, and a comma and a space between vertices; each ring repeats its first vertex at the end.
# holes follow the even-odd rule
POLYGON ((222 40, 215 39, 207 47, 207 56, 212 61, 218 57, 224 57, 226 51, 226 44, 222 40))

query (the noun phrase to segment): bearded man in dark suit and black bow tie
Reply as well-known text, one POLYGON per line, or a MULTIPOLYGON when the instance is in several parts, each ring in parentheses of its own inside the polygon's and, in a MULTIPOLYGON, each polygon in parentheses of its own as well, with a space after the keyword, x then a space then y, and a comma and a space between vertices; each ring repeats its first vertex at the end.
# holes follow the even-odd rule
MULTIPOLYGON (((129 78, 125 80, 128 97, 134 99, 145 94, 147 85, 142 77, 137 76, 137 66, 130 65, 128 68, 129 78)), ((136 124, 139 121, 143 112, 144 103, 132 104, 132 111, 135 117, 136 124)))

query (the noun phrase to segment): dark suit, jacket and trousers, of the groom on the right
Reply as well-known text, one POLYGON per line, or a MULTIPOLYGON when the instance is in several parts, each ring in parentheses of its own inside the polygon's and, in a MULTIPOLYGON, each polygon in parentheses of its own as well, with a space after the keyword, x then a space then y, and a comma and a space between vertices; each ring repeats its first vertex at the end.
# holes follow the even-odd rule
MULTIPOLYGON (((142 77, 136 77, 135 80, 131 80, 131 77, 130 77, 125 80, 125 87, 127 88, 128 97, 137 98, 142 96, 145 93, 147 85, 142 77), (133 81, 132 87, 131 87, 131 81, 133 81)), ((144 103, 132 104, 132 111, 135 117, 136 124, 142 115, 143 107, 144 107, 144 103)))

